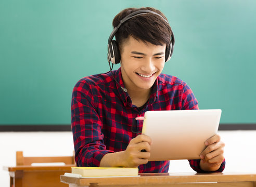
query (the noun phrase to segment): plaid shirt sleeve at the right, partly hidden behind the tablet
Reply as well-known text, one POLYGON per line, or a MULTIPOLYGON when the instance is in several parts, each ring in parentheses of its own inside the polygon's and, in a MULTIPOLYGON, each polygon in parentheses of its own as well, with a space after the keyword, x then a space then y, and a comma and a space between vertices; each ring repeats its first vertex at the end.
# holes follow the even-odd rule
MULTIPOLYGON (((189 88, 187 84, 183 87, 183 94, 182 94, 182 110, 198 110, 198 102, 194 96, 193 91, 189 88)), ((189 159, 188 160, 190 167, 197 171, 197 172, 209 172, 204 171, 200 168, 200 159, 189 159)), ((225 159, 222 162, 220 168, 216 171, 210 172, 222 172, 225 168, 225 159)))

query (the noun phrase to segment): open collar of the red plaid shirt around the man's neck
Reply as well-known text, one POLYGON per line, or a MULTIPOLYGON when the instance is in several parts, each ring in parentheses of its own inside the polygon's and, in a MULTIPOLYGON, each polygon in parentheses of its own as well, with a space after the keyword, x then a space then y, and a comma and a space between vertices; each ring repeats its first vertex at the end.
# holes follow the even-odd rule
MULTIPOLYGON (((119 68, 116 72, 113 73, 114 77, 117 79, 117 82, 121 85, 121 87, 124 87, 123 84, 123 79, 122 79, 122 73, 121 73, 121 68, 119 68)), ((132 100, 128 94, 128 92, 123 91, 123 89, 120 87, 120 85, 118 85, 116 83, 117 86, 117 90, 119 93, 119 96, 122 100, 122 102, 124 103, 124 106, 126 106, 127 104, 132 105, 132 100)), ((158 98, 158 77, 155 81, 155 83, 152 86, 152 91, 151 91, 151 95, 149 97, 149 102, 148 104, 152 104, 156 101, 156 99, 158 98)))

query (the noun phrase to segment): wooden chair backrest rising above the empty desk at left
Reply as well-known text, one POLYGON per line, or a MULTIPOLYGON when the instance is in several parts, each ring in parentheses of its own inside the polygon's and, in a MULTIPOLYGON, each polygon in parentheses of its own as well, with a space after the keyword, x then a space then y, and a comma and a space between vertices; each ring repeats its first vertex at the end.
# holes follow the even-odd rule
POLYGON ((72 156, 48 156, 48 157, 24 157, 23 151, 16 152, 16 165, 24 166, 32 163, 65 163, 66 165, 75 165, 74 152, 72 156))

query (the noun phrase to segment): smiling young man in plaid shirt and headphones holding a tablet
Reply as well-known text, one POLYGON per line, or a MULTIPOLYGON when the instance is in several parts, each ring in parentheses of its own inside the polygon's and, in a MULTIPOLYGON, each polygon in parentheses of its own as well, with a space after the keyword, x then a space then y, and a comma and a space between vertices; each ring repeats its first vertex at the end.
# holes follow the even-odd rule
MULTIPOLYGON (((172 55, 174 36, 167 18, 153 8, 129 8, 113 20, 108 59, 117 71, 82 78, 72 94, 72 131, 78 166, 138 167, 168 172, 169 161, 148 162, 150 137, 140 135, 152 110, 196 110, 197 100, 177 77, 161 74, 172 55), (116 41, 112 41, 116 36, 116 41), (146 152, 142 151, 146 150, 146 152)), ((157 125, 157 124, 156 124, 157 125)), ((224 143, 215 135, 201 159, 189 160, 198 172, 223 171, 224 143)))

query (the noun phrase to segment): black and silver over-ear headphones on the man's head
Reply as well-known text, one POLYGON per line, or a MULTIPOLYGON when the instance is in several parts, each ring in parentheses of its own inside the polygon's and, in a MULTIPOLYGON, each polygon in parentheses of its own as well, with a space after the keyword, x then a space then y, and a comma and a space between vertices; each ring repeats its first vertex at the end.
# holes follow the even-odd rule
MULTIPOLYGON (((124 17, 120 23, 118 24, 118 26, 116 26, 113 31, 111 32, 109 38, 108 38, 108 62, 112 62, 113 64, 118 64, 120 63, 121 60, 121 55, 120 55, 120 51, 118 48, 118 43, 117 41, 113 40, 114 35, 117 33, 118 29, 120 28, 120 26, 127 20, 130 20, 133 17, 139 16, 139 15, 144 15, 147 13, 152 13, 155 15, 160 16, 165 22, 168 23, 168 21, 163 18, 161 15, 157 14, 154 11, 151 10, 137 10, 135 12, 133 12, 132 14, 124 17)), ((169 23, 168 23, 169 24, 169 23)), ((171 30, 171 41, 170 41, 170 46, 167 46, 165 49, 165 62, 167 62, 168 60, 171 59, 172 57, 172 53, 173 53, 173 48, 174 48, 174 43, 175 43, 175 39, 174 39, 174 35, 173 32, 171 30)))

